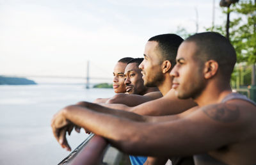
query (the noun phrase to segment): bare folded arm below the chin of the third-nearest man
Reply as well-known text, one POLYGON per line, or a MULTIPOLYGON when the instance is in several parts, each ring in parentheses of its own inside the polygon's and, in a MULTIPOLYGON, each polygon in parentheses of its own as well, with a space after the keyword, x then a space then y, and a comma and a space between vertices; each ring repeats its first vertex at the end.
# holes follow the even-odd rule
POLYGON ((160 91, 150 92, 143 96, 118 93, 114 97, 110 98, 106 104, 125 104, 126 106, 133 107, 160 97, 163 97, 160 91))

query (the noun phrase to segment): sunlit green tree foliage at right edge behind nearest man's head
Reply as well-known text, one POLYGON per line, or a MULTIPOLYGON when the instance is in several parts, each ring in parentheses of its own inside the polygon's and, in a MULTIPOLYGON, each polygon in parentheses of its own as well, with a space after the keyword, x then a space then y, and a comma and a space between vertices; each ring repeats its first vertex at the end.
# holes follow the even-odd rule
MULTIPOLYGON (((246 67, 256 63, 256 4, 252 1, 240 1, 230 8, 222 8, 223 15, 236 13, 236 18, 230 20, 229 39, 237 53, 237 63, 232 74, 233 88, 248 86, 251 83, 252 68, 246 67), (244 68, 241 70, 241 67, 244 68)), ((234 15, 232 15, 234 16, 234 15)), ((226 36, 227 22, 207 28, 226 36)))

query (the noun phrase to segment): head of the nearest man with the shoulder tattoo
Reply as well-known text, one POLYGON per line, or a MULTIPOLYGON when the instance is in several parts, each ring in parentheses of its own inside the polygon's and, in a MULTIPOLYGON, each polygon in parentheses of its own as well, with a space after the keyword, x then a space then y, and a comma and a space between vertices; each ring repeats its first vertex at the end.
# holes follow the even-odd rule
POLYGON ((171 72, 173 88, 179 98, 197 98, 208 84, 225 89, 235 64, 236 51, 224 36, 214 32, 189 36, 180 45, 171 72))

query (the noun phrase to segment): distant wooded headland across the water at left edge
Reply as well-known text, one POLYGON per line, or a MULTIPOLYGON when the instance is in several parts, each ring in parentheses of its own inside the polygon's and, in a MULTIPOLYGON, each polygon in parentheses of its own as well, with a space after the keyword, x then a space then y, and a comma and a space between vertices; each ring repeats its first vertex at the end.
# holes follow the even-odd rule
POLYGON ((6 77, 0 75, 0 85, 32 85, 37 84, 33 80, 24 77, 6 77))

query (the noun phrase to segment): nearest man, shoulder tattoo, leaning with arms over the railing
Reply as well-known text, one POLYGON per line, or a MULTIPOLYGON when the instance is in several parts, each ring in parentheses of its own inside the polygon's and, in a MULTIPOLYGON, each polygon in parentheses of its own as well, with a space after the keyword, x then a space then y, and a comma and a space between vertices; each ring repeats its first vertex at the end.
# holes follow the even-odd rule
POLYGON ((175 94, 197 102, 191 113, 141 116, 88 103, 62 109, 52 119, 52 131, 64 148, 69 148, 68 127, 78 125, 129 154, 195 155, 196 164, 255 164, 256 104, 232 93, 235 63, 227 38, 198 33, 180 45, 171 73, 175 94))

